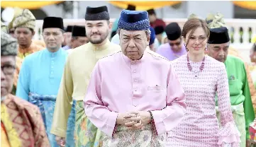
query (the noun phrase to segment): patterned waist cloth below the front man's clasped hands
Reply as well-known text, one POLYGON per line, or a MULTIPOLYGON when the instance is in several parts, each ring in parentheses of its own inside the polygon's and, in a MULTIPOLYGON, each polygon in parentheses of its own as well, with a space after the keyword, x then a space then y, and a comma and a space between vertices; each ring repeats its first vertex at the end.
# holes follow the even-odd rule
POLYGON ((103 134, 102 147, 163 147, 167 134, 157 136, 151 124, 146 124, 143 129, 128 130, 118 125, 113 137, 103 134))

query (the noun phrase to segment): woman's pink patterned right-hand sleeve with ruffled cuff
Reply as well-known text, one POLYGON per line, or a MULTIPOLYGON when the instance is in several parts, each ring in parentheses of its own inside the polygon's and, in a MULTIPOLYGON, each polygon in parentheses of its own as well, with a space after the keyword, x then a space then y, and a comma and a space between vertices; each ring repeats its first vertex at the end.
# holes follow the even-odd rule
POLYGON ((221 65, 219 71, 217 93, 218 109, 221 114, 221 130, 218 133, 218 145, 222 147, 239 147, 240 132, 238 131, 238 128, 235 126, 235 122, 233 120, 228 88, 228 77, 226 67, 224 64, 221 65))

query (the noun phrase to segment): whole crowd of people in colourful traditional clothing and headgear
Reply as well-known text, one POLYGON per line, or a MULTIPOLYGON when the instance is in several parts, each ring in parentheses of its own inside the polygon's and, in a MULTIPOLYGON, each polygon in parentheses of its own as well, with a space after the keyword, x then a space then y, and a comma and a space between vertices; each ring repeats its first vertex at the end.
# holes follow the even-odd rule
POLYGON ((1 23, 1 146, 250 146, 256 82, 223 16, 180 28, 135 9, 113 25, 106 6, 84 26, 49 16, 33 40, 35 16, 15 8, 1 23))

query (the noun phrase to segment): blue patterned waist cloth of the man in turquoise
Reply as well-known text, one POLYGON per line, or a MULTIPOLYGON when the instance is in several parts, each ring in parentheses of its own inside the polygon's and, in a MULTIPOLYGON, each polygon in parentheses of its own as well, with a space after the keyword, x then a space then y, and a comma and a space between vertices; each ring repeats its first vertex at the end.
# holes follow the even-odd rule
MULTIPOLYGON (((29 93, 28 101, 33 105, 37 105, 43 117, 43 122, 45 124, 45 129, 47 131, 48 139, 52 147, 57 147, 55 141, 55 135, 50 134, 50 129, 52 127, 52 117, 55 110, 56 95, 38 95, 36 93, 29 93)), ((72 110, 69 114, 67 122, 67 137, 66 137, 66 147, 74 146, 74 122, 75 122, 75 101, 72 104, 72 110)), ((61 113, 61 112, 60 112, 61 113)))

